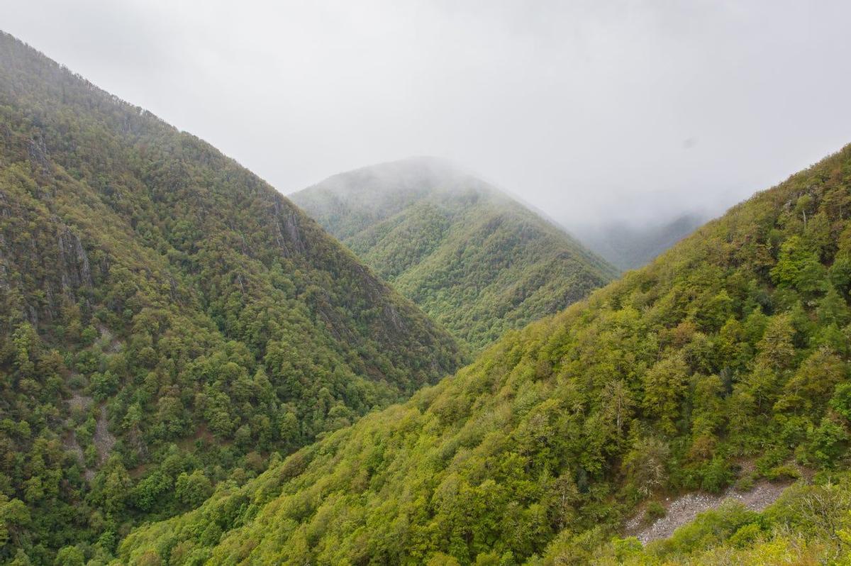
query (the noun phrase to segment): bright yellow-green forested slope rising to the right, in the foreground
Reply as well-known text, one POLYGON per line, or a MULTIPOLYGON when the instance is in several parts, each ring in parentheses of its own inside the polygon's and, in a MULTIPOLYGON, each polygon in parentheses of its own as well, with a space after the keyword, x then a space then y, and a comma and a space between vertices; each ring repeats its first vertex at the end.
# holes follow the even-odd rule
MULTIPOLYGON (((851 543, 851 146, 123 562, 826 563, 851 543), (811 478, 642 548, 642 501, 811 478), (613 539, 614 537, 614 539, 613 539)), ((658 507, 658 505, 657 505, 658 507)))

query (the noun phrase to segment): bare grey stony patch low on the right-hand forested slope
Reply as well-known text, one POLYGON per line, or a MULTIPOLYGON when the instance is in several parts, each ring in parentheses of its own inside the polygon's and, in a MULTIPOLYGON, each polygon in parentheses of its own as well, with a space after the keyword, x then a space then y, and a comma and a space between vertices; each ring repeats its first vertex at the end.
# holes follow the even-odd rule
POLYGON ((791 483, 769 483, 762 481, 757 483, 750 491, 738 491, 729 488, 722 494, 712 495, 705 493, 692 493, 681 495, 674 500, 665 503, 667 514, 665 517, 656 519, 650 525, 643 525, 643 513, 639 512, 625 524, 625 534, 635 536, 642 544, 652 540, 666 539, 673 535, 677 527, 688 523, 697 517, 698 513, 717 509, 725 500, 738 500, 751 511, 760 512, 780 497, 783 490, 791 483))

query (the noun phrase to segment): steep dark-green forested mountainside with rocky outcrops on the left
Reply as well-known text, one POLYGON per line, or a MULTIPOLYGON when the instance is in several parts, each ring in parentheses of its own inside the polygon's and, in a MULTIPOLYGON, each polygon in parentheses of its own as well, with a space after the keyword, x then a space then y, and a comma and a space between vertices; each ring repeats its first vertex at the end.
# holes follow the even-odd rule
POLYGON ((459 363, 271 186, 0 33, 0 558, 108 555, 459 363))

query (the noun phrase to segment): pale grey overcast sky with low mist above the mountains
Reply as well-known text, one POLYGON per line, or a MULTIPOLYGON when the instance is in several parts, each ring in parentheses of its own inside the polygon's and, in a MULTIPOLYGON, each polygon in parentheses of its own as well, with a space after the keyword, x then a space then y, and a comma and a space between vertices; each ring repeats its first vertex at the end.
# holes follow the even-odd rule
POLYGON ((712 212, 851 142, 849 2, 0 0, 281 192, 448 157, 571 224, 712 212))

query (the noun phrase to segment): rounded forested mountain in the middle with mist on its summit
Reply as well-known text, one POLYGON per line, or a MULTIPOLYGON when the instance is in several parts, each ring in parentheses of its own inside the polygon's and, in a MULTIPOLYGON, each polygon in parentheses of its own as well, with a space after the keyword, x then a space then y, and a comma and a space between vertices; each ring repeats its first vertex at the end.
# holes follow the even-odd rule
POLYGON ((617 273, 523 204, 435 158, 334 175, 291 197, 473 350, 617 273))

